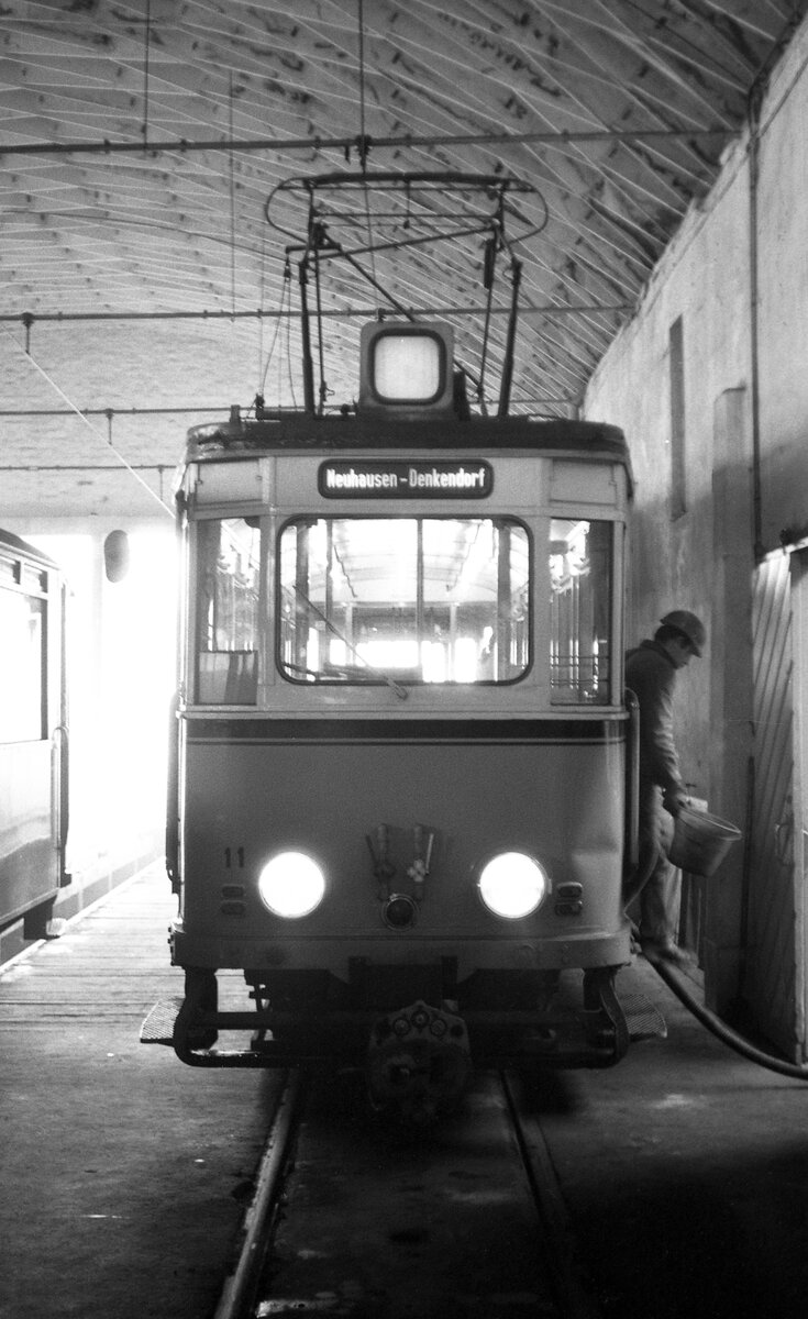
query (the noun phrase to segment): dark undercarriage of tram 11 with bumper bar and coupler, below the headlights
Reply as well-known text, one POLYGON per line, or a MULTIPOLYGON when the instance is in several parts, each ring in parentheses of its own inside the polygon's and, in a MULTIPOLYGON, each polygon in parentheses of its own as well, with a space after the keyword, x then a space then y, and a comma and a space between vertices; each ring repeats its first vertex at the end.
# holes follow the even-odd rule
POLYGON ((452 962, 356 958, 347 984, 329 972, 246 972, 251 1009, 222 1009, 215 972, 187 968, 185 998, 158 1004, 144 1038, 191 1067, 363 1067, 375 1104, 437 1108, 457 1101, 473 1068, 610 1067, 624 1055, 618 967, 475 972, 457 985, 452 962), (244 1031, 247 1046, 222 1039, 244 1031))

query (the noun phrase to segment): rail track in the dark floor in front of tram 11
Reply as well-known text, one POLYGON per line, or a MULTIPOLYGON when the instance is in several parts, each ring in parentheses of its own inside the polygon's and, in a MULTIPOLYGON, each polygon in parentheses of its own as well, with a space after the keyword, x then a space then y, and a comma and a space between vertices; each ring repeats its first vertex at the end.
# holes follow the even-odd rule
POLYGON ((428 1126, 360 1079, 289 1074, 215 1319, 597 1319, 541 1128, 512 1074, 428 1126))

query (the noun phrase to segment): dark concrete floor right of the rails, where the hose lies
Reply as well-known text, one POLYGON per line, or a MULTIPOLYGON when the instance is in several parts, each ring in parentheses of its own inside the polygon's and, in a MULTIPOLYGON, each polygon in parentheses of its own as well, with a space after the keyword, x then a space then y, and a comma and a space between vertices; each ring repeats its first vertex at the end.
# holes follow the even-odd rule
POLYGON ((808 1072, 778 1075, 706 1031, 651 967, 621 973, 668 1038, 566 1072, 541 1126, 605 1316, 808 1312, 808 1072))

